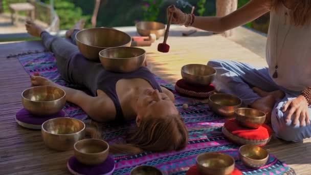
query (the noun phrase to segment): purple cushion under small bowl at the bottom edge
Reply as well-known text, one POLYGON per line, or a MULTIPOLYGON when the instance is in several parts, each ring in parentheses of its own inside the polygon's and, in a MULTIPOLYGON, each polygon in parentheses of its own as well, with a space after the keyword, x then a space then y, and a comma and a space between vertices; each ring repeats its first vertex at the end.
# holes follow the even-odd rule
POLYGON ((107 159, 99 165, 84 165, 80 163, 76 157, 72 156, 67 163, 69 171, 73 174, 112 174, 115 170, 115 160, 108 156, 107 159))

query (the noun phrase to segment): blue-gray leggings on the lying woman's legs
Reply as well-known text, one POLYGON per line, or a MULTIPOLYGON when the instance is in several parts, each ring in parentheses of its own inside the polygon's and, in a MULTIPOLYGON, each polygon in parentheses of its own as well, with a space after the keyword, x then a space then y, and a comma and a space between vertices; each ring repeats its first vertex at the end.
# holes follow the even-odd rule
POLYGON ((71 58, 74 53, 79 52, 75 37, 78 31, 79 30, 74 30, 70 38, 52 36, 48 32, 41 33, 43 46, 45 46, 48 51, 55 54, 58 72, 66 81, 70 81, 68 77, 69 58, 71 58))

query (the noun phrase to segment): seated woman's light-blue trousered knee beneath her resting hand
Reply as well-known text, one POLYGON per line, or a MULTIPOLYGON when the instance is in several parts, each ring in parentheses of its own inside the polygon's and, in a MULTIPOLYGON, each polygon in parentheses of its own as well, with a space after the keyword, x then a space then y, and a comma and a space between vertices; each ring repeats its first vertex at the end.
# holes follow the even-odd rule
POLYGON ((285 141, 300 142, 311 136, 311 127, 293 125, 292 121, 285 121, 286 112, 282 112, 284 102, 274 108, 271 114, 271 124, 276 136, 285 141))

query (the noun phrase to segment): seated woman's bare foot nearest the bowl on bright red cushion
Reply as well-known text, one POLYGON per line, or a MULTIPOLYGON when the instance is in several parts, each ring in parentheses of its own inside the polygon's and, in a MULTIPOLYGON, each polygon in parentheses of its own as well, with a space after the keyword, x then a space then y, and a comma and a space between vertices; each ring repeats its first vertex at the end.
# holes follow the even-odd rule
POLYGON ((273 95, 267 95, 265 97, 255 100, 252 104, 250 104, 250 107, 264 112, 266 115, 265 123, 270 123, 271 112, 275 105, 275 102, 276 100, 273 95))

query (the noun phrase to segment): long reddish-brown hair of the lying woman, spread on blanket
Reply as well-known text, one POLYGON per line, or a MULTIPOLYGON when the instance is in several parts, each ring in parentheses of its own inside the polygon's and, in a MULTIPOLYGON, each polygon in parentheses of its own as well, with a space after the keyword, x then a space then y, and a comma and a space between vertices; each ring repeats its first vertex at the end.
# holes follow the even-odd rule
MULTIPOLYGON (((100 134, 93 134, 93 136, 100 136, 100 134)), ((109 152, 137 154, 143 151, 175 151, 187 145, 188 130, 180 115, 148 116, 141 120, 139 127, 135 125, 129 129, 125 143, 109 145, 109 152)))

